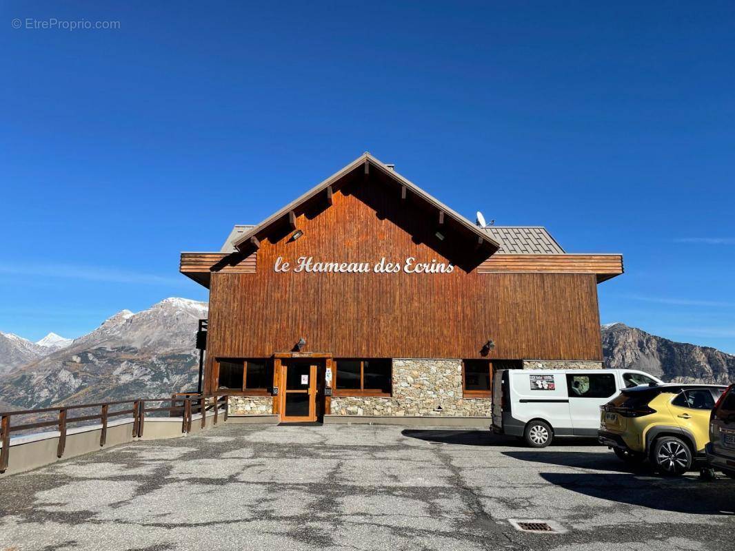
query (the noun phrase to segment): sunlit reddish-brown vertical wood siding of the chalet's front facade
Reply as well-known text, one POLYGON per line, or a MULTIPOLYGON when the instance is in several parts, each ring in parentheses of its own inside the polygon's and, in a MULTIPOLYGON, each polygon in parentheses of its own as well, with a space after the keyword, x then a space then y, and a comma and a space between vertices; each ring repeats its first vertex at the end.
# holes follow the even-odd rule
POLYGON ((285 231, 261 240, 257 271, 212 271, 209 384, 212 359, 268 357, 301 337, 305 350, 334 357, 481 358, 492 339, 489 359, 602 359, 596 272, 564 273, 564 259, 548 273, 534 259, 513 264, 512 255, 452 273, 276 273, 279 256, 293 266, 300 256, 449 262, 459 248, 450 231, 434 237, 438 220, 369 180, 335 191, 332 201, 296 213, 300 239, 285 231))

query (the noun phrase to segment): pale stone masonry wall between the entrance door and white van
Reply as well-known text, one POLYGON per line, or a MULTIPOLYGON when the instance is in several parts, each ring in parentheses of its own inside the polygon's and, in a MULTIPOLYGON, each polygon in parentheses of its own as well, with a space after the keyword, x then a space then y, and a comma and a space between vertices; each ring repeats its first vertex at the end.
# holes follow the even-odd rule
POLYGON ((491 415, 489 398, 462 397, 461 360, 394 359, 392 378, 392 397, 332 397, 331 413, 385 417, 491 415))

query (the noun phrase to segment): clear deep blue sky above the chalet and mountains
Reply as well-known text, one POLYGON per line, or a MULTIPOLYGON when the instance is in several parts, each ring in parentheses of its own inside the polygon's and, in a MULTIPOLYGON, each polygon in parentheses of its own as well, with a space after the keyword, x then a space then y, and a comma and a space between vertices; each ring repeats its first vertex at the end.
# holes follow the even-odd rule
POLYGON ((623 253, 603 322, 735 353, 731 1, 101 4, 0 7, 0 331, 204 300, 179 251, 370 151, 623 253))

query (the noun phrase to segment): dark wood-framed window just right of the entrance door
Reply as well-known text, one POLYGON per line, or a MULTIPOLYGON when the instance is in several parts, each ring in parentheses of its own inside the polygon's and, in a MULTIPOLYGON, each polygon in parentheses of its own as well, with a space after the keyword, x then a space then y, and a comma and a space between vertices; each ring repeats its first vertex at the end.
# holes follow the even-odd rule
POLYGON ((390 396, 390 359, 338 359, 335 396, 390 396))

